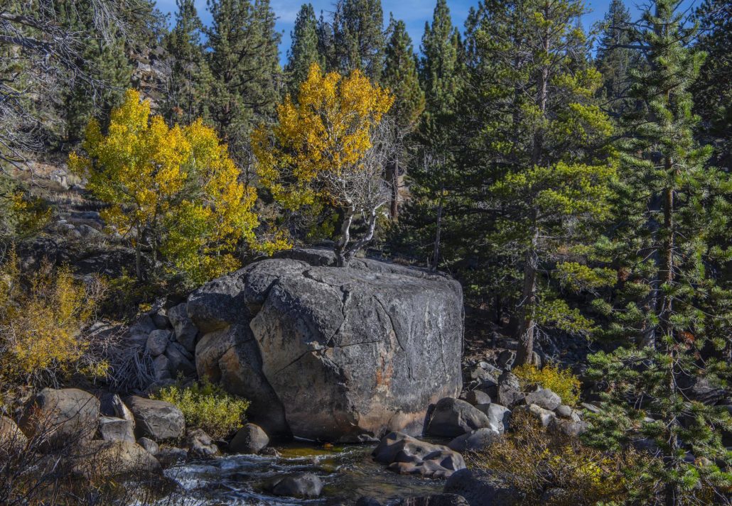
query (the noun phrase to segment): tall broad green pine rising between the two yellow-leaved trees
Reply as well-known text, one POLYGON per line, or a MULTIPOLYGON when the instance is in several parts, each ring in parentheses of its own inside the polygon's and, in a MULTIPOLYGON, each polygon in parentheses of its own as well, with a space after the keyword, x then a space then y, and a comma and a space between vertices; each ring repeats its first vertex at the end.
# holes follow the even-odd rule
POLYGON ((279 99, 280 34, 269 0, 209 0, 209 10, 209 110, 234 159, 247 165, 250 132, 272 118, 279 99))

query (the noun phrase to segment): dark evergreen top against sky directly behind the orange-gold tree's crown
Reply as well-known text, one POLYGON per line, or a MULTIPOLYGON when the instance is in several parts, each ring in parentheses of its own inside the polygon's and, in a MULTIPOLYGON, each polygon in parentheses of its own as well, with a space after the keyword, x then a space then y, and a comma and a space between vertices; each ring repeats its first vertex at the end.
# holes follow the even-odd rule
POLYGON ((359 69, 371 80, 384 69, 384 11, 381 0, 340 0, 332 22, 335 70, 359 69))

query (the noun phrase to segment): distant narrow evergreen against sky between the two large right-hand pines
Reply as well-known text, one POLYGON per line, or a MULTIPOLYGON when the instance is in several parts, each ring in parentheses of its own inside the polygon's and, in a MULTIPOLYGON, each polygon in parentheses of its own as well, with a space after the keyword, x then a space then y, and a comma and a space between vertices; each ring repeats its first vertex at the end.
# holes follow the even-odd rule
POLYGON ((605 109, 618 118, 627 110, 628 72, 637 64, 632 42, 630 11, 622 0, 613 0, 605 14, 600 46, 597 48, 597 69, 602 74, 602 99, 605 109))

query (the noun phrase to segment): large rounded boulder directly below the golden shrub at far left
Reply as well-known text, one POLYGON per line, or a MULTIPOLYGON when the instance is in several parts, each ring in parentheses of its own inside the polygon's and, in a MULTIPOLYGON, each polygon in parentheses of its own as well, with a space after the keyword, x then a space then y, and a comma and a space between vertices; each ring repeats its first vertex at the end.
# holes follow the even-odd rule
POLYGON ((99 400, 76 388, 44 388, 31 401, 20 427, 42 435, 48 448, 64 448, 94 438, 99 420, 99 400))

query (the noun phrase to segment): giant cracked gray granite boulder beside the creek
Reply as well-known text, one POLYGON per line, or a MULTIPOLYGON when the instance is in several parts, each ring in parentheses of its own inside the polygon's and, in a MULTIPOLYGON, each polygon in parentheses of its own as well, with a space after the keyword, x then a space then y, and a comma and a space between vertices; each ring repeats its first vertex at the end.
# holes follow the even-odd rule
POLYGON ((250 399, 275 436, 359 442, 419 434, 462 385, 463 297, 445 276, 295 250, 193 292, 201 377, 250 399))

